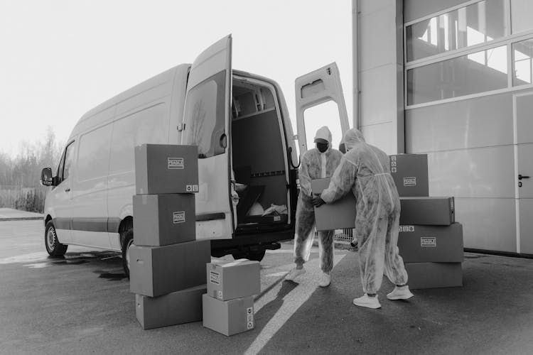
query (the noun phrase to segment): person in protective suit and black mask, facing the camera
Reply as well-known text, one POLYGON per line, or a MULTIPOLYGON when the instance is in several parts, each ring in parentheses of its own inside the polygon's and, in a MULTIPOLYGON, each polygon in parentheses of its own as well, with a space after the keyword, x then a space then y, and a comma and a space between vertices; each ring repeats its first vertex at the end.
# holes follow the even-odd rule
MULTIPOLYGON (((300 171, 300 195, 296 204, 296 234, 294 236, 294 263, 293 268, 286 280, 294 280, 298 275, 306 272, 303 263, 309 260, 311 246, 314 239, 315 209, 313 208, 313 195, 311 192, 311 180, 330 178, 333 171, 340 163, 343 153, 331 148, 331 132, 327 126, 323 126, 315 135, 316 148, 313 148, 301 157, 300 171)), ((330 272, 333 269, 333 232, 319 231, 319 254, 321 260, 321 287, 327 287, 331 283, 330 272)))

